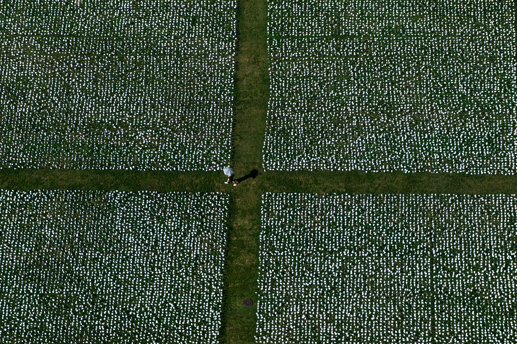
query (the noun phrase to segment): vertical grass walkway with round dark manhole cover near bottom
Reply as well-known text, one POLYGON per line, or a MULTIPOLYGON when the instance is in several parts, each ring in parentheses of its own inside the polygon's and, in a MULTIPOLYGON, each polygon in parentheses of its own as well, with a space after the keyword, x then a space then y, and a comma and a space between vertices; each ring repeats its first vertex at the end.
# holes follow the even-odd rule
MULTIPOLYGON (((238 0, 235 66, 235 128, 231 165, 240 185, 230 186, 230 228, 225 266, 226 299, 222 342, 252 343, 256 327, 258 234, 260 233, 262 146, 266 126, 269 76, 267 2, 238 0), (255 177, 256 178, 253 178, 255 177), (254 300, 251 307, 244 299, 254 300)), ((228 190, 226 188, 225 190, 228 190)))

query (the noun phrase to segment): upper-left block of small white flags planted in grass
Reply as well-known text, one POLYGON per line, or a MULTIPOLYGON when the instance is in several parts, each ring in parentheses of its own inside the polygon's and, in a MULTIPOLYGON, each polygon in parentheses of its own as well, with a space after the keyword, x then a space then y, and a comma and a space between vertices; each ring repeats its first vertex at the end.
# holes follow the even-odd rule
POLYGON ((0 167, 229 164, 236 0, 0 7, 0 167))

